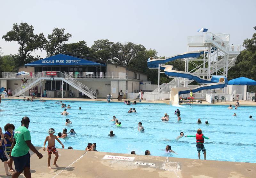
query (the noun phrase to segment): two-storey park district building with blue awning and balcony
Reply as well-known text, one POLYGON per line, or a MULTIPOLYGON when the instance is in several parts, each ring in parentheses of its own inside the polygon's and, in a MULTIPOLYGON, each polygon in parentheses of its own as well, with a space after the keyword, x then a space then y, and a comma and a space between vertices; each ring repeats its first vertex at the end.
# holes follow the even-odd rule
POLYGON ((13 95, 19 96, 21 79, 27 78, 27 88, 22 96, 29 95, 29 88, 37 87, 37 97, 46 89, 47 97, 62 97, 62 94, 69 97, 70 93, 72 97, 87 97, 88 92, 88 95, 96 94, 95 98, 105 98, 109 93, 117 98, 120 90, 124 93, 138 92, 140 84, 151 84, 143 72, 73 53, 57 54, 25 64, 17 70, 21 71, 28 74, 3 72, 0 87, 10 88, 13 95))

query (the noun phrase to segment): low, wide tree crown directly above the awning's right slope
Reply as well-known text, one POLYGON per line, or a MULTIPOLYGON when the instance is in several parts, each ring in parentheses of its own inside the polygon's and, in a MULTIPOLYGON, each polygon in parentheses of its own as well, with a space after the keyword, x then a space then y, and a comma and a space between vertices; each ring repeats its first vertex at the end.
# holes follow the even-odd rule
POLYGON ((88 57, 93 56, 91 48, 86 45, 85 41, 64 44, 63 48, 61 49, 61 51, 59 53, 65 53, 65 52, 80 54, 82 56, 88 56, 88 57))

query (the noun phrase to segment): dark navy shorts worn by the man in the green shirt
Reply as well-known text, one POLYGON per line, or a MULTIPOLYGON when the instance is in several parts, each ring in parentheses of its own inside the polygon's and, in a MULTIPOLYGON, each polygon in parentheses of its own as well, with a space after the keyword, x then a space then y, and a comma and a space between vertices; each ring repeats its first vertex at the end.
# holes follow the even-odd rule
POLYGON ((25 167, 30 167, 30 154, 29 152, 24 156, 14 157, 12 156, 14 161, 15 169, 17 172, 23 172, 25 167))

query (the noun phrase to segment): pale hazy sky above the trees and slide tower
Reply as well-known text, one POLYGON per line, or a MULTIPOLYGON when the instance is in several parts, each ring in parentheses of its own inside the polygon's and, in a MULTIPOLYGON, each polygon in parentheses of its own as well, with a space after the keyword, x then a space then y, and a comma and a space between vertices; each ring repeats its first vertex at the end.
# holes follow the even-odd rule
MULTIPOLYGON (((72 34, 67 43, 98 39, 133 42, 155 49, 158 56, 187 52, 187 36, 208 32, 230 34, 230 44, 242 45, 256 31, 256 1, 171 0, 12 0, 0 1, 0 37, 13 23, 26 22, 45 36, 55 27, 72 34)), ((17 54, 17 42, 0 38, 3 55, 17 54)), ((242 48, 243 49, 243 48, 242 48)), ((46 56, 35 51, 32 55, 46 56)))

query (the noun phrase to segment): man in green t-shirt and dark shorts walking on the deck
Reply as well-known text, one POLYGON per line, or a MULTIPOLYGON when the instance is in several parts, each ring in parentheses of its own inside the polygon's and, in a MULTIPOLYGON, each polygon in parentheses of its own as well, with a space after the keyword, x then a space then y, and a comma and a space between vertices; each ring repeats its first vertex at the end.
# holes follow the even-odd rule
POLYGON ((43 158, 43 155, 39 153, 31 143, 31 136, 28 130, 29 122, 28 117, 23 117, 21 126, 15 130, 10 152, 16 169, 16 172, 12 174, 12 178, 18 178, 23 170, 24 176, 26 178, 31 178, 29 149, 36 153, 39 159, 43 158))

